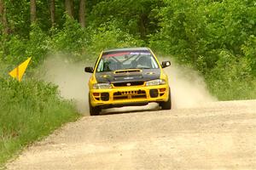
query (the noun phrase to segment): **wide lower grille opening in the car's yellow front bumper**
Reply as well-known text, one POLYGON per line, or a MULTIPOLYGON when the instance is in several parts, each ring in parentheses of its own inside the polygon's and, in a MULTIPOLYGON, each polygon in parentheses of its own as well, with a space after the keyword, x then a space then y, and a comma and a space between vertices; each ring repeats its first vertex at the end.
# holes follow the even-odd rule
POLYGON ((113 99, 146 99, 147 95, 144 90, 132 90, 113 93, 113 99))

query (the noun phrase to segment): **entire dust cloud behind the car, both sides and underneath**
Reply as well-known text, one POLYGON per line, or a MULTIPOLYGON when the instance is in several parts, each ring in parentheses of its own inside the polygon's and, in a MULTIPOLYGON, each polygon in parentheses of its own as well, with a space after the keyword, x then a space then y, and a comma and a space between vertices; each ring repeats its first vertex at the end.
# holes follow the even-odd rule
MULTIPOLYGON (((168 60, 168 59, 165 59, 168 60)), ((84 72, 84 66, 92 66, 92 61, 73 63, 67 56, 55 54, 49 56, 41 68, 40 74, 46 82, 53 82, 59 86, 61 97, 72 99, 78 111, 83 115, 89 115, 88 107, 88 81, 90 73, 84 72)), ((197 107, 206 102, 216 100, 208 93, 206 84, 196 71, 183 68, 172 62, 172 66, 165 69, 172 88, 172 107, 186 108, 197 107)), ((158 105, 150 104, 140 107, 123 107, 103 111, 130 112, 157 110, 158 105)))

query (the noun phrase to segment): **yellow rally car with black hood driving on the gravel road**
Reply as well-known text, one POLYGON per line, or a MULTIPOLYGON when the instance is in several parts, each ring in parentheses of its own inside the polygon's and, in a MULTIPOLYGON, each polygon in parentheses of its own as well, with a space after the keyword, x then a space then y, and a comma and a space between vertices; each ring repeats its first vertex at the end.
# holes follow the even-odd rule
POLYGON ((161 109, 172 108, 168 77, 149 48, 117 48, 103 51, 89 81, 90 115, 99 115, 102 109, 157 102, 161 109))

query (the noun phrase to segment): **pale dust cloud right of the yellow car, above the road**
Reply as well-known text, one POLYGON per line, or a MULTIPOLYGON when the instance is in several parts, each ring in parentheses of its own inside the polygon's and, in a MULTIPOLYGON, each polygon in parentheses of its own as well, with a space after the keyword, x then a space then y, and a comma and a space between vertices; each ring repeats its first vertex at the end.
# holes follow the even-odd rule
POLYGON ((204 78, 197 71, 177 65, 173 61, 164 71, 168 75, 172 91, 172 108, 199 107, 217 101, 208 92, 204 78))

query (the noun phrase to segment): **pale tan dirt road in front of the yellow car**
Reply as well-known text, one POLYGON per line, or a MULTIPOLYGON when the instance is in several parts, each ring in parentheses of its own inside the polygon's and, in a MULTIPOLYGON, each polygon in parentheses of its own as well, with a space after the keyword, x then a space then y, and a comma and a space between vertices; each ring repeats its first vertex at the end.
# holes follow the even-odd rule
POLYGON ((256 100, 84 116, 9 169, 256 169, 256 100))

